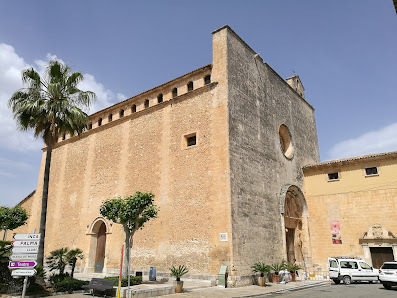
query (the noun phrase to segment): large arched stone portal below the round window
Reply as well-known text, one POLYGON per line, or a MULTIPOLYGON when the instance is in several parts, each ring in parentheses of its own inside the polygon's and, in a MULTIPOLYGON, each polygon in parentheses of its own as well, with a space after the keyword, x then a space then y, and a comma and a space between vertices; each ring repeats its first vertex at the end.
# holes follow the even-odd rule
POLYGON ((301 266, 310 267, 308 209, 298 186, 289 184, 281 189, 280 215, 284 259, 296 259, 301 266))

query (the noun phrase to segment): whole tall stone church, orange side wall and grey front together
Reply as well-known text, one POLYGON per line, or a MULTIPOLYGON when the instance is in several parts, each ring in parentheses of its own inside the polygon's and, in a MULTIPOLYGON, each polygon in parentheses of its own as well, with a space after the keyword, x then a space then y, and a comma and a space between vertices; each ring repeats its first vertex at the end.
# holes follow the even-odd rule
MULTIPOLYGON (((124 234, 99 206, 152 192, 159 217, 134 238, 133 270, 185 264, 192 277, 214 278, 227 265, 230 282, 251 283, 253 263, 287 257, 285 228, 297 223, 284 214, 286 197, 307 217, 302 166, 319 162, 319 151, 314 109, 298 91, 228 26, 214 31, 212 65, 99 111, 81 136, 60 138, 45 255, 78 247, 79 270, 93 272, 104 223, 103 272, 115 274, 124 234), (197 143, 187 146, 191 136, 197 143)), ((44 160, 45 150, 36 193, 22 203, 32 216, 15 232, 38 230, 44 160)), ((306 219, 301 229, 308 243, 306 219)))

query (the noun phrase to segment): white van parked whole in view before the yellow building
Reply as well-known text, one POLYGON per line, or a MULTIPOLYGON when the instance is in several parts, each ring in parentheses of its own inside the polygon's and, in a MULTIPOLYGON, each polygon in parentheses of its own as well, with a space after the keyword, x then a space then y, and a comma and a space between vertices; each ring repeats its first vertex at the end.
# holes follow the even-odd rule
POLYGON ((328 258, 329 277, 339 284, 345 285, 354 281, 378 281, 379 271, 360 258, 337 257, 328 258))

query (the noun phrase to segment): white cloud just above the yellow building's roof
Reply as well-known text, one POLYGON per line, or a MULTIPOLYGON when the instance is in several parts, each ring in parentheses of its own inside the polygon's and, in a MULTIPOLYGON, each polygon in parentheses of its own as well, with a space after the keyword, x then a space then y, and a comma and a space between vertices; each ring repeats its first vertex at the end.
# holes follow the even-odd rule
POLYGON ((328 156, 340 159, 370 153, 382 153, 397 150, 397 123, 392 123, 376 131, 367 132, 353 139, 332 146, 328 156))

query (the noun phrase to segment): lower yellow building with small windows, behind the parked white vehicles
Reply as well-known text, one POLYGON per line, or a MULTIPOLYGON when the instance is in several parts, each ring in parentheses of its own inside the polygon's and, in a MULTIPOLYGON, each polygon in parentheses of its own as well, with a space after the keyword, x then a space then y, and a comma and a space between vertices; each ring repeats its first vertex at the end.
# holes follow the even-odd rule
POLYGON ((397 152, 303 167, 313 266, 356 256, 397 260, 397 152))

